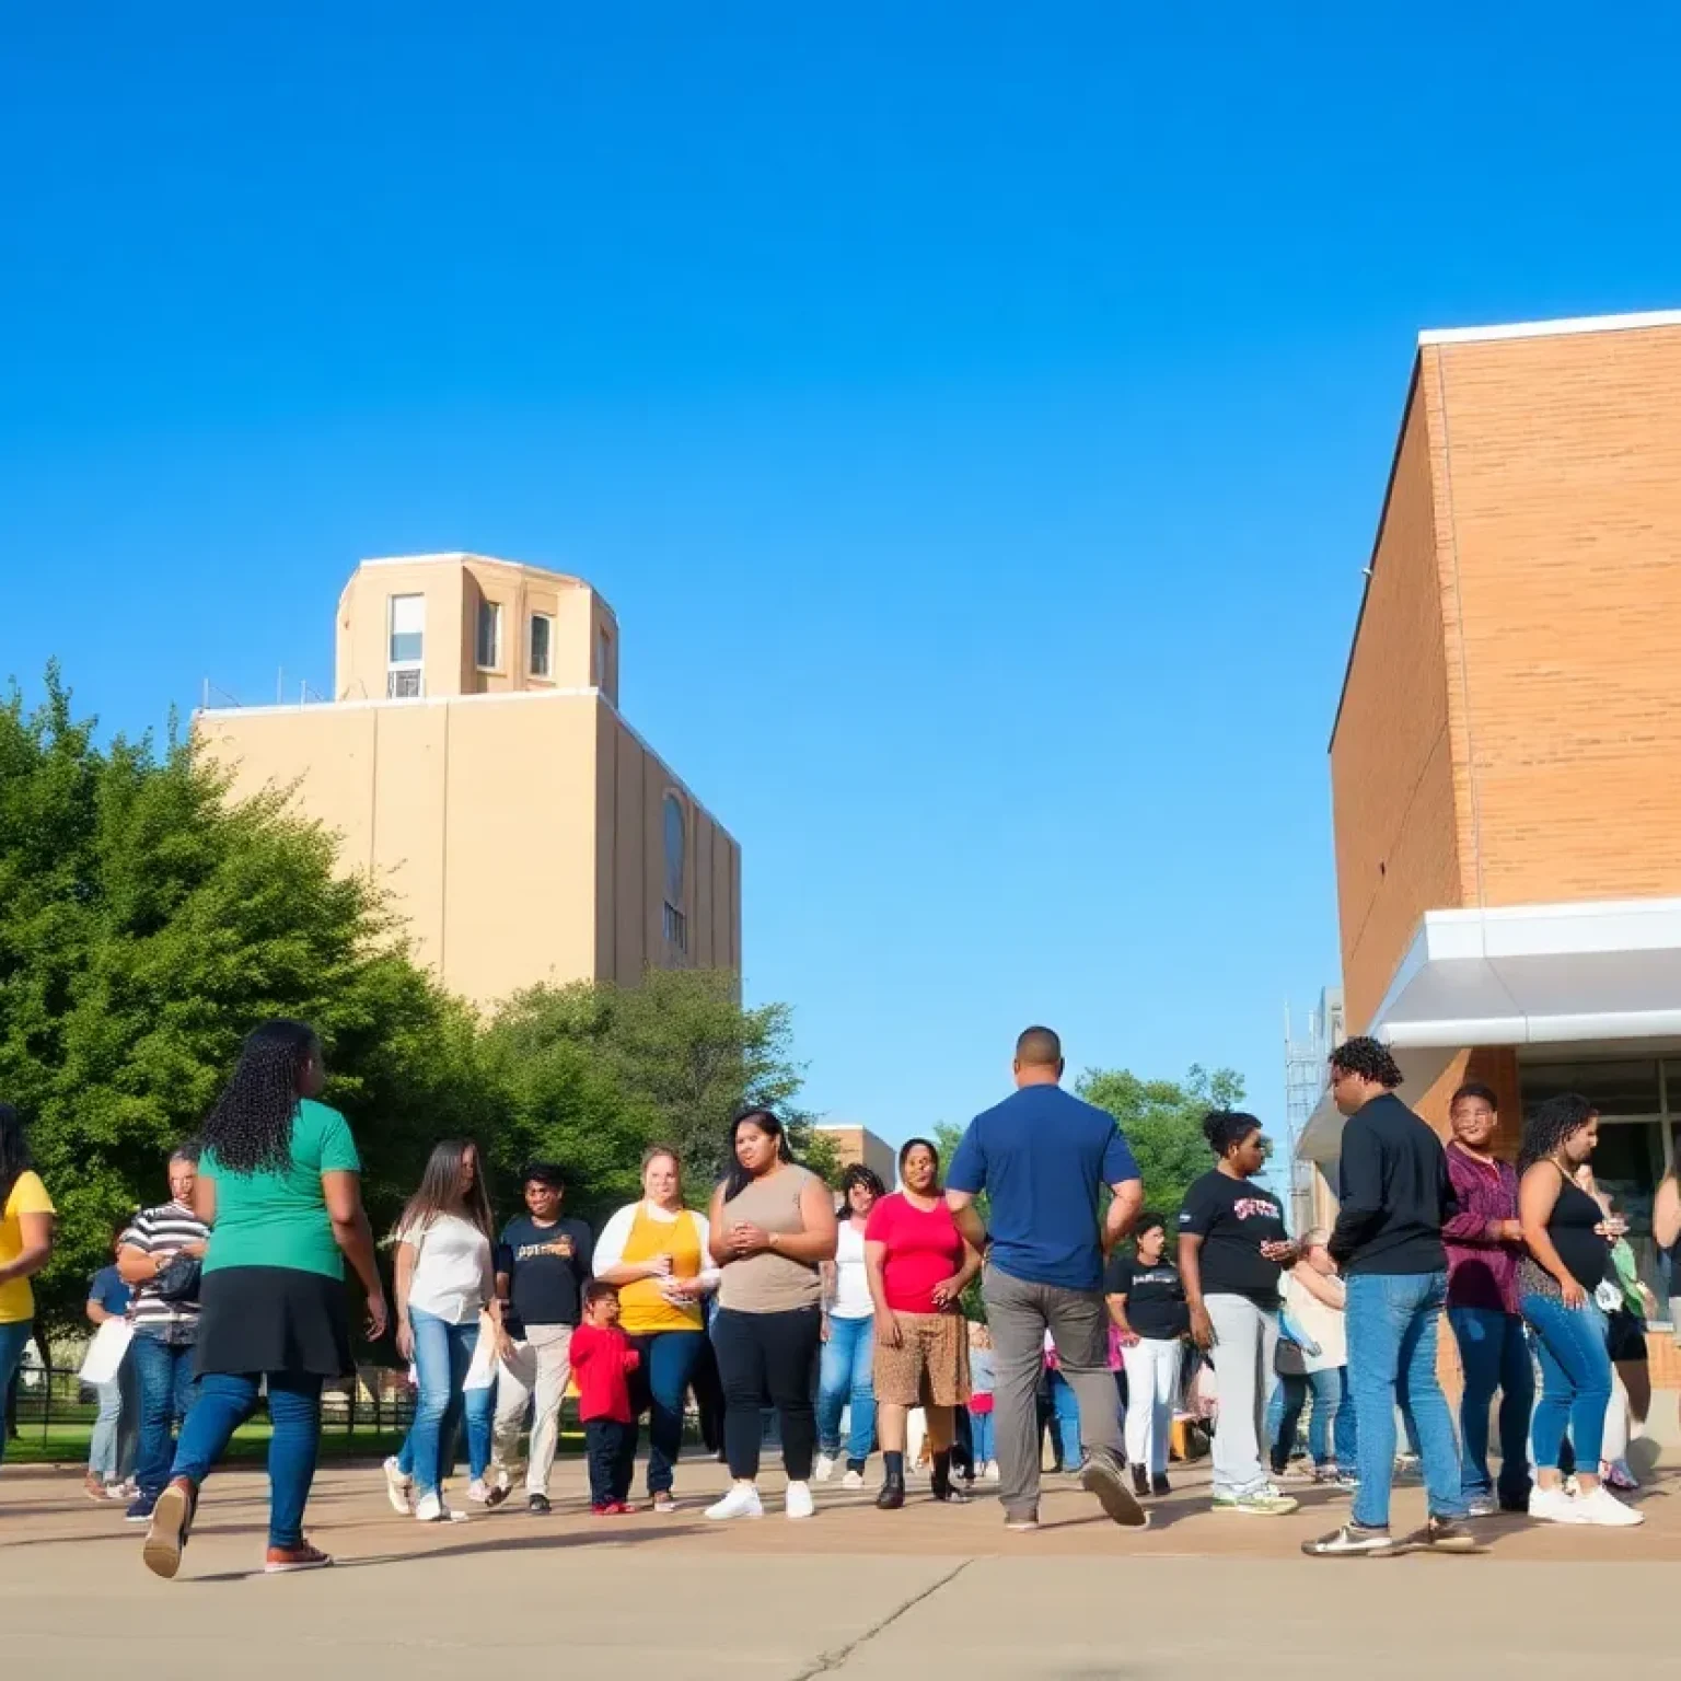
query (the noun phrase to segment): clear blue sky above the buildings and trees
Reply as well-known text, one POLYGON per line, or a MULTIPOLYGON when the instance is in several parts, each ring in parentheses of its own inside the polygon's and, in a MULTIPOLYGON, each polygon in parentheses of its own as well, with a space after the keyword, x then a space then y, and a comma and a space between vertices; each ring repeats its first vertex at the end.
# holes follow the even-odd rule
POLYGON ((360 556, 588 577, 889 1138, 1037 1019, 1281 1128, 1414 335, 1681 303, 1659 5, 5 30, 0 672, 134 730, 328 689, 360 556))

